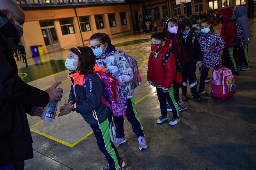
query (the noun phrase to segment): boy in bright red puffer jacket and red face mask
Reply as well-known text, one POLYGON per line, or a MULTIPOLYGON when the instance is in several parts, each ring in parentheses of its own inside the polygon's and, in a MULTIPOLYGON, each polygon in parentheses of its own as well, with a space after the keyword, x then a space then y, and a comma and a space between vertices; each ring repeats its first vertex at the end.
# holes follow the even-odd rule
POLYGON ((173 82, 176 76, 176 59, 169 52, 169 44, 164 34, 156 32, 151 35, 151 53, 148 58, 148 83, 156 87, 160 102, 161 116, 156 121, 162 124, 168 120, 166 100, 172 108, 172 119, 169 125, 176 125, 180 121, 178 104, 173 96, 173 82))

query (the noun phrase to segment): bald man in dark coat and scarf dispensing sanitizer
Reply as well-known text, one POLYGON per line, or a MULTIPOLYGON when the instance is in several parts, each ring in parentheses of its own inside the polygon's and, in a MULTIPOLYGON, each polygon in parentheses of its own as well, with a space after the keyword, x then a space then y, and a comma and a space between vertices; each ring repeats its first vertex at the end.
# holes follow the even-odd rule
POLYGON ((13 0, 0 1, 0 169, 24 169, 24 160, 33 158, 27 114, 41 116, 48 102, 60 100, 63 90, 55 83, 46 91, 26 84, 18 76, 13 57, 22 57, 19 45, 25 16, 13 0))

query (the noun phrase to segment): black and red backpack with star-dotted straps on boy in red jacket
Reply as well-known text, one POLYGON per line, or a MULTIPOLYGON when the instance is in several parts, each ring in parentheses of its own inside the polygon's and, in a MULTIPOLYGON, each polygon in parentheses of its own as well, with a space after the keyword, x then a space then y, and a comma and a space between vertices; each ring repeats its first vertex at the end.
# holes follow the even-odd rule
MULTIPOLYGON (((167 60, 168 60, 168 58, 171 54, 172 53, 170 51, 167 51, 164 55, 164 58, 163 58, 164 71, 165 71, 165 64, 166 64, 166 62, 167 62, 167 60)), ((152 60, 153 60, 153 57, 154 57, 153 53, 152 53, 151 57, 152 57, 152 60)), ((182 80, 182 66, 181 66, 180 61, 178 59, 176 59, 176 75, 175 75, 174 81, 180 84, 181 80, 182 80)))

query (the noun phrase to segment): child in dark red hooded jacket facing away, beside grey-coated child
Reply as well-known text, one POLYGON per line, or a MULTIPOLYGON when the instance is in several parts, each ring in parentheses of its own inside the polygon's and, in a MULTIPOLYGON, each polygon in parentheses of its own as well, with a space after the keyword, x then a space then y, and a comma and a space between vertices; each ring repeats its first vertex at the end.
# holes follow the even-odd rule
POLYGON ((231 69, 234 75, 238 75, 236 61, 234 58, 234 40, 236 39, 236 25, 231 19, 233 11, 231 8, 223 8, 220 10, 220 12, 223 18, 220 36, 226 42, 225 48, 223 49, 222 53, 223 65, 231 69))

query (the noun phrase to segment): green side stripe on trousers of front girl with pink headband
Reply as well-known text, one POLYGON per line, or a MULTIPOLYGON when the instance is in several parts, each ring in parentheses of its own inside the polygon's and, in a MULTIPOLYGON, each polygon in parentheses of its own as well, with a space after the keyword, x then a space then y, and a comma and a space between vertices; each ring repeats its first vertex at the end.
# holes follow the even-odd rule
POLYGON ((101 133, 104 139, 105 147, 109 153, 109 155, 114 159, 115 164, 116 164, 116 170, 120 169, 117 157, 116 157, 116 152, 114 149, 111 147, 110 143, 110 135, 109 135, 109 122, 108 119, 106 119, 104 122, 100 123, 100 129, 101 133))

